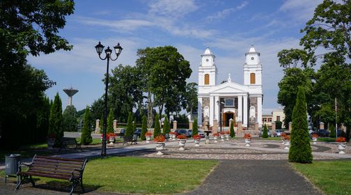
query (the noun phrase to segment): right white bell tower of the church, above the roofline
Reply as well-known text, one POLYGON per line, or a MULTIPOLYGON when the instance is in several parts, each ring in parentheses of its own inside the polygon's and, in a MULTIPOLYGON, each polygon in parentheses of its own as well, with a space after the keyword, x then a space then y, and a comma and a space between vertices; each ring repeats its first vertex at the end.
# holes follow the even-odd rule
POLYGON ((244 85, 262 86, 262 65, 260 64, 260 53, 251 45, 249 52, 245 54, 244 85))

